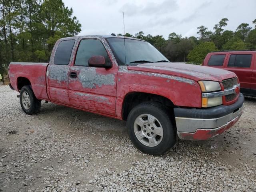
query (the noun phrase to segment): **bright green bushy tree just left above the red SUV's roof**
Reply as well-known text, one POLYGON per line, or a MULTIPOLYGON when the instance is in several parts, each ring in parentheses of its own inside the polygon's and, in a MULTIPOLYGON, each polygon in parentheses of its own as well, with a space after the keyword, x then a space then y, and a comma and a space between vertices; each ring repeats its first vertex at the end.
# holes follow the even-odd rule
POLYGON ((217 51, 214 42, 201 42, 189 52, 188 61, 192 64, 202 64, 206 55, 213 51, 217 51))

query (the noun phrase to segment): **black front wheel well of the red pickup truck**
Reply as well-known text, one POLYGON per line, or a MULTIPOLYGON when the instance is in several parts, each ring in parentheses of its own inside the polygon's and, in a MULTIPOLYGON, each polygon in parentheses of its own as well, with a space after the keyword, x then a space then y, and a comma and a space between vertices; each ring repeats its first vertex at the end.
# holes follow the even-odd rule
POLYGON ((160 102, 170 110, 171 114, 173 114, 174 104, 170 99, 164 96, 156 95, 156 94, 132 92, 127 94, 124 98, 123 107, 122 107, 123 120, 127 120, 128 114, 130 113, 132 108, 134 108, 136 105, 142 102, 148 102, 148 101, 160 102))

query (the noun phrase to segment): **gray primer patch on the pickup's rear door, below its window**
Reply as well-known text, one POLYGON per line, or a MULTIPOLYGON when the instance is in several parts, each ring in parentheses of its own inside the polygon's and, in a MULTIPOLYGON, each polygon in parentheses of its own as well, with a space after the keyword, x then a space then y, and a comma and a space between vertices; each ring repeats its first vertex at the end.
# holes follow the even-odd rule
POLYGON ((49 78, 56 80, 58 83, 68 81, 68 67, 51 65, 49 68, 49 78))

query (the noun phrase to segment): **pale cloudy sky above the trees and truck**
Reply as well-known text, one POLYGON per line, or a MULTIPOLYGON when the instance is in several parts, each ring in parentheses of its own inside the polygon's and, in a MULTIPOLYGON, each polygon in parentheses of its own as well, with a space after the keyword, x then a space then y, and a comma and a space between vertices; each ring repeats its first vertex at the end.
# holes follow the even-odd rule
POLYGON ((197 36, 197 27, 213 30, 222 18, 228 18, 226 30, 235 30, 242 22, 256 19, 256 0, 63 0, 73 8, 82 24, 80 35, 135 34, 163 35, 171 32, 197 36))

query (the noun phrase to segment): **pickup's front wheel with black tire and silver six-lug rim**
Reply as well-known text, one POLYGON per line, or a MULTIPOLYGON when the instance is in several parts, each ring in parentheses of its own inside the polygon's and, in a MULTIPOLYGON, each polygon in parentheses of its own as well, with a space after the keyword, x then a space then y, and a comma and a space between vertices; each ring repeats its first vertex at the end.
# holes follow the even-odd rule
POLYGON ((143 153, 161 155, 176 144, 170 112, 160 103, 145 102, 135 106, 126 126, 130 140, 143 153))

